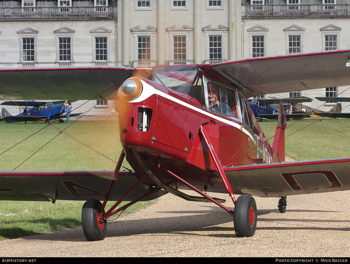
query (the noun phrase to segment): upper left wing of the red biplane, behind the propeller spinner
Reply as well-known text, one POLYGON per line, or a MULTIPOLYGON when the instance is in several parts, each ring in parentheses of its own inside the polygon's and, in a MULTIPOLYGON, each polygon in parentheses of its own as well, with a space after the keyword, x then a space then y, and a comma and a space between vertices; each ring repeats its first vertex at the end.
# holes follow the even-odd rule
POLYGON ((112 99, 126 67, 0 69, 1 100, 112 99))

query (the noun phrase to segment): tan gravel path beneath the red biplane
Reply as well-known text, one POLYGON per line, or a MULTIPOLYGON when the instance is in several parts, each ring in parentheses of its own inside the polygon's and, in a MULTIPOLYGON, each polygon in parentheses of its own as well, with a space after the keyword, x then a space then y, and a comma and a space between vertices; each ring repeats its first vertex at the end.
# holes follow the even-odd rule
MULTIPOLYGON (((226 194, 212 194, 228 200, 226 194)), ((236 196, 237 198, 237 196, 236 196)), ((255 197, 255 235, 237 238, 233 218, 212 203, 167 194, 107 224, 104 241, 87 242, 82 228, 0 241, 2 257, 350 257, 350 191, 255 197), (345 206, 343 205, 345 203, 345 206)))

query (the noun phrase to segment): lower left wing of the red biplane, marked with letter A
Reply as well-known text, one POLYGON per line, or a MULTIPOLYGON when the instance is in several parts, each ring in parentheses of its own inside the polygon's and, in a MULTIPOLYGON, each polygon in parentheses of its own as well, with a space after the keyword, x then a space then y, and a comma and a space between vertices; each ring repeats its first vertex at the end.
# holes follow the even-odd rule
MULTIPOLYGON (((112 175, 113 171, 0 171, 0 200, 103 200, 112 175)), ((134 172, 120 171, 109 200, 117 201, 137 181, 134 172)), ((146 193, 148 193, 148 189, 139 185, 126 199, 132 201, 146 193)), ((165 193, 159 191, 144 200, 153 200, 165 193)))

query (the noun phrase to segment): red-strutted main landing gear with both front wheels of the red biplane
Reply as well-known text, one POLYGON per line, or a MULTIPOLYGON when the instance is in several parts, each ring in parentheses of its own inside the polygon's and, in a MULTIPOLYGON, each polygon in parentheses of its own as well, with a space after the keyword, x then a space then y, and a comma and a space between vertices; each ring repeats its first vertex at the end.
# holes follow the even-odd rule
POLYGON ((138 182, 135 183, 133 187, 131 187, 130 190, 128 190, 120 199, 117 201, 112 208, 109 210, 106 210, 105 212, 105 206, 107 201, 109 200, 109 196, 111 194, 111 190, 113 188, 113 184, 117 179, 121 163, 123 162, 123 159, 125 157, 124 151, 122 151, 116 169, 114 170, 110 185, 107 189, 105 199, 103 203, 99 202, 98 200, 92 199, 87 201, 82 210, 82 225, 83 225, 83 231, 84 235, 87 240, 89 241, 99 241, 103 240, 106 237, 106 220, 110 216, 124 210, 125 208, 129 207, 130 205, 141 201, 145 199, 147 196, 154 194, 155 192, 158 192, 161 189, 166 190, 169 193, 172 193, 174 195, 177 195, 187 201, 197 201, 197 202, 213 202, 217 204, 219 207, 225 209, 228 211, 229 214, 233 216, 233 223, 235 225, 235 232, 237 237, 251 237, 254 235, 256 227, 257 227, 257 206, 255 203, 254 198, 251 195, 243 194, 238 197, 237 201, 235 199, 235 196, 233 195, 233 190, 230 185, 230 182, 228 178, 225 175, 224 169, 220 164, 219 158, 217 157, 214 148, 212 147, 212 144, 210 143, 209 137, 207 133, 205 132, 204 128, 201 126, 200 133, 202 134, 202 137, 205 141, 205 144, 208 147, 209 153, 214 160, 214 163, 216 165, 217 171, 224 183, 224 186, 226 190, 228 191, 233 204, 235 204, 235 211, 232 211, 231 209, 225 207, 222 203, 225 202, 223 199, 217 199, 208 196, 207 194, 203 193, 200 189, 196 188, 195 186, 191 185, 191 183, 187 182, 186 180, 182 179, 180 176, 176 175, 172 171, 169 171, 167 168, 163 168, 159 162, 158 166, 162 167, 166 172, 169 173, 170 176, 172 176, 173 179, 171 179, 169 182, 162 182, 153 172, 152 169, 149 169, 148 165, 145 162, 145 159, 135 150, 131 149, 132 154, 137 159, 139 165, 141 168, 145 171, 145 174, 139 178, 138 182), (158 186, 152 190, 150 190, 147 194, 142 195, 138 199, 135 199, 134 201, 116 209, 118 205, 143 181, 145 181, 146 178, 151 178, 153 182, 158 186), (190 189, 194 190, 201 196, 191 196, 186 193, 180 192, 178 189, 174 189, 170 187, 171 183, 173 182, 181 182, 182 184, 186 185, 190 189), (203 196, 203 197, 202 197, 203 196))

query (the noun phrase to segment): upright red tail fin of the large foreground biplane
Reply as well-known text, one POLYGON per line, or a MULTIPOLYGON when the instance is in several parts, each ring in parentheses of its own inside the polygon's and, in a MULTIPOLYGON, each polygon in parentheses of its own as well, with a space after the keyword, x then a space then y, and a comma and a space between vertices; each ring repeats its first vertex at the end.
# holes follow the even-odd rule
MULTIPOLYGON (((282 103, 280 103, 280 108, 283 109, 282 103)), ((278 111, 278 125, 276 127, 275 137, 273 139, 272 150, 275 152, 277 157, 285 161, 285 129, 287 127, 285 112, 278 111)))

